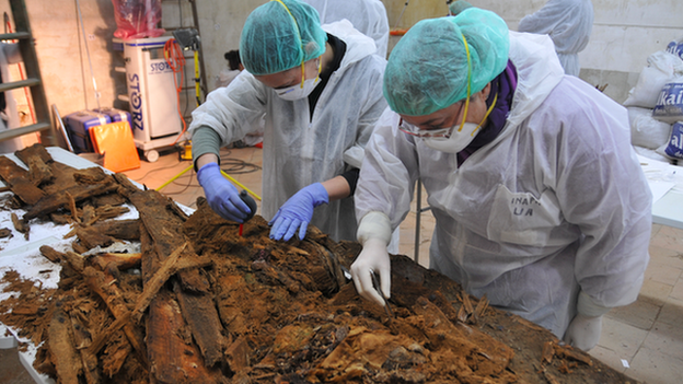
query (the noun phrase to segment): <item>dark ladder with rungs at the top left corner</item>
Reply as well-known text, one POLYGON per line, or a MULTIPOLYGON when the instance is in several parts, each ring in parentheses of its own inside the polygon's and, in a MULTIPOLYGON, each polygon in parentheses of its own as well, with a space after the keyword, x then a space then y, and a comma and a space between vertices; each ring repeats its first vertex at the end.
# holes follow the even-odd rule
POLYGON ((40 132, 40 142, 44 146, 56 146, 56 138, 49 118, 49 108, 45 97, 38 57, 35 51, 33 34, 28 23, 28 12, 24 0, 9 0, 14 20, 14 33, 0 34, 0 40, 19 40, 19 49, 26 69, 26 80, 3 82, 0 84, 0 92, 21 89, 27 86, 31 90, 31 98, 35 112, 36 123, 8 129, 0 132, 0 141, 13 139, 20 136, 40 132))

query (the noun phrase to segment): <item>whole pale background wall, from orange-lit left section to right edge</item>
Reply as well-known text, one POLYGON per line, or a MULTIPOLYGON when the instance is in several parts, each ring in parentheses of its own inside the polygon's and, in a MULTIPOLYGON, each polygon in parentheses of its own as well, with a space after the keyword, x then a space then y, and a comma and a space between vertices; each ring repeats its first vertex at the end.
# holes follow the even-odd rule
MULTIPOLYGON (((8 0, 0 0, 0 10, 9 10, 8 0)), ((48 105, 55 104, 62 115, 97 106, 126 108, 117 101, 126 94, 123 57, 113 50, 116 31, 112 0, 26 0, 36 50, 45 82, 48 105), (88 49, 86 49, 88 48, 88 49), (92 72, 88 59, 92 61, 92 72), (93 77, 100 97, 95 97, 93 77)), ((329 0, 344 1, 344 0, 329 0)), ((239 46, 242 25, 248 13, 266 0, 195 1, 204 48, 206 88, 213 90, 220 71, 227 68, 223 54, 239 46)), ((383 0, 392 27, 407 28, 425 18, 448 13, 444 0, 383 0), (404 11, 405 8, 405 12, 404 11), (398 20, 401 13, 403 16, 398 20)), ((470 0, 476 7, 500 14, 510 28, 519 20, 540 9, 545 0, 470 0)), ((623 102, 647 57, 663 49, 669 42, 683 37, 683 1, 680 0, 593 0, 595 22, 591 42, 580 54, 581 74, 586 81, 609 86, 605 93, 623 102)), ((189 26, 192 9, 188 0, 165 0, 162 26, 189 26), (178 2, 181 5, 178 5, 178 2)), ((392 36, 390 50, 398 37, 392 36)), ((194 78, 192 59, 186 78, 194 78)), ((192 85, 192 83, 190 83, 192 85)), ((194 91, 189 91, 194 97, 194 91)), ((194 107, 194 98, 189 109, 194 107)))

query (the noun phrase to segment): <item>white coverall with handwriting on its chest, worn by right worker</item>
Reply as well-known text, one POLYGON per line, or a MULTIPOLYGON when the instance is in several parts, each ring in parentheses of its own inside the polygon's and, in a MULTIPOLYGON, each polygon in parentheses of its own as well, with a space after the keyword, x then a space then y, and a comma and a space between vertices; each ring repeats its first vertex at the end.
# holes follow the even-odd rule
POLYGON ((547 36, 510 32, 510 59, 519 82, 506 127, 460 168, 386 108, 356 216, 380 211, 396 228, 420 178, 436 218, 430 268, 562 338, 579 289, 604 307, 636 300, 652 198, 624 107, 564 75, 547 36))

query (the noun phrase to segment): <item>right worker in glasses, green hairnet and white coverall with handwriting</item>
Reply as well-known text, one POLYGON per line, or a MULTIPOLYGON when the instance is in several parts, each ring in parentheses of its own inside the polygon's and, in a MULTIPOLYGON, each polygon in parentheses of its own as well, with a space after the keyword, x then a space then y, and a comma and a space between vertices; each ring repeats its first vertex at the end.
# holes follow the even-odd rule
POLYGON ((548 36, 468 8, 396 44, 356 190, 358 292, 391 295, 386 244, 417 181, 436 218, 429 267, 582 350, 633 303, 652 195, 626 109, 566 75, 548 36), (372 284, 380 277, 381 293, 372 284))

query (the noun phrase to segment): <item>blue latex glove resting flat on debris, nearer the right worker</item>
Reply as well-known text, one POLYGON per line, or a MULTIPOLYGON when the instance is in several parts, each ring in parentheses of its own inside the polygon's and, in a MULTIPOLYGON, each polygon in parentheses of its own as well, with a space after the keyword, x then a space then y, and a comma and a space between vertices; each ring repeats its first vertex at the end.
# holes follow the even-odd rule
POLYGON ((280 207, 268 223, 273 225, 270 238, 289 241, 299 229, 299 238, 303 240, 313 217, 313 209, 327 202, 329 195, 322 184, 315 183, 301 188, 280 207))

